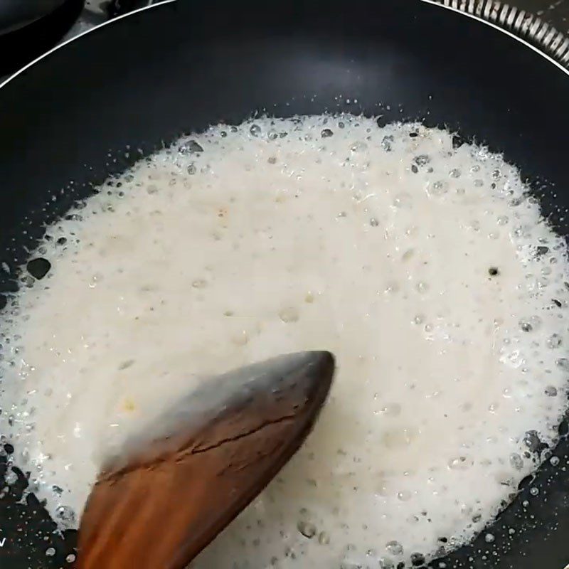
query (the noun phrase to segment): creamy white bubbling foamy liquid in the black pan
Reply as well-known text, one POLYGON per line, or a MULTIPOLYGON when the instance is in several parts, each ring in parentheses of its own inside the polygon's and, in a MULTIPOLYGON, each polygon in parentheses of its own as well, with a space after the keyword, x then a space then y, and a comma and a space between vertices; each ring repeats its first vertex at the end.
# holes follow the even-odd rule
POLYGON ((289 351, 336 354, 329 402, 196 568, 418 563, 480 531, 555 442, 565 245, 483 147, 259 119, 183 139, 71 213, 1 336, 1 430, 62 523, 145 417, 289 351))

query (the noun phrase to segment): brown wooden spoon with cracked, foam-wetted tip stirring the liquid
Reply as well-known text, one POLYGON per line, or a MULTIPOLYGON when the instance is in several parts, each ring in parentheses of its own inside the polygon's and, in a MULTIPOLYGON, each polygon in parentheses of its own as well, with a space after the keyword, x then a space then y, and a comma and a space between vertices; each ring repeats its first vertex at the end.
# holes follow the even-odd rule
POLYGON ((326 400, 334 357, 289 354, 207 381, 100 474, 78 569, 184 569, 292 457, 326 400))

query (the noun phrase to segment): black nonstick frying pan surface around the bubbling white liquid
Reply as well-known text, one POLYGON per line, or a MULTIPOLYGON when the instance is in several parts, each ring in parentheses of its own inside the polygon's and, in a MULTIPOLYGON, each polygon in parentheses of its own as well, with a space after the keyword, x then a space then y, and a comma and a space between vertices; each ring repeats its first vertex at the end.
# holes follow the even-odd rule
MULTIPOLYGON (((43 223, 140 156, 256 112, 362 112, 454 129, 520 166, 543 213, 568 235, 568 102, 560 65, 486 23, 419 0, 164 4, 88 33, 0 89, 0 260, 23 262, 43 223)), ((15 287, 0 271, 1 292, 15 287)), ((567 422, 559 429, 560 445, 545 452, 560 464, 546 461, 521 484, 490 530, 496 541, 480 536, 433 567, 565 567, 567 422)), ((70 566, 73 532, 53 536, 33 496, 20 504, 24 484, 0 499, 0 567, 70 566), (50 546, 56 553, 46 556, 50 546)))

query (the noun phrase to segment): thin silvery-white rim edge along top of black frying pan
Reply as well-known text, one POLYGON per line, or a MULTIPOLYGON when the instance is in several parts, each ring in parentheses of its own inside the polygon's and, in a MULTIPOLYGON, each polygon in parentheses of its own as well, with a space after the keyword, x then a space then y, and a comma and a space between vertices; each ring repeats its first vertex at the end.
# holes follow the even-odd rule
MULTIPOLYGON (((6 85, 9 85, 9 83, 11 83, 11 81, 15 80, 19 75, 21 75, 22 73, 24 73, 28 69, 32 68, 33 65, 37 65, 38 63, 41 62, 41 60, 48 57, 52 53, 55 53, 55 51, 57 51, 61 48, 64 48, 65 46, 68 46, 68 44, 72 43, 73 41, 77 41, 78 39, 82 38, 83 36, 86 36, 87 33, 95 32, 95 31, 99 30, 100 28, 103 28, 104 26, 110 26, 112 23, 116 23, 116 22, 118 22, 124 18, 128 18, 129 16, 134 16, 134 14, 139 14, 139 12, 150 10, 153 8, 157 8, 158 6, 164 6, 166 4, 173 4, 176 1, 177 0, 161 0, 161 1, 156 2, 154 4, 149 4, 149 6, 143 6, 142 8, 138 8, 136 10, 133 10, 127 14, 122 14, 122 16, 117 16, 116 18, 112 18, 109 21, 99 23, 96 26, 93 26, 92 28, 79 33, 77 36, 73 36, 73 38, 69 38, 68 40, 65 40, 63 43, 58 44, 58 46, 51 48, 50 50, 46 51, 46 53, 43 53, 38 58, 36 58, 36 59, 32 60, 30 63, 27 63, 26 65, 24 65, 23 68, 19 69, 18 71, 16 71, 16 73, 14 73, 13 75, 10 75, 9 78, 6 78, 3 82, 1 82, 0 83, 0 89, 3 87, 6 87, 6 85)), ((440 2, 438 2, 437 0, 420 0, 420 1, 425 3, 425 4, 430 4, 431 6, 436 6, 437 8, 440 8, 440 9, 447 9, 451 12, 454 12, 454 14, 458 14, 459 16, 466 16, 468 18, 471 18, 474 21, 484 23, 486 26, 490 26, 491 28, 494 28, 496 31, 499 31, 501 33, 506 34, 506 36, 514 38, 514 40, 519 41, 519 43, 521 43, 522 46, 526 46, 526 48, 530 48, 531 50, 533 50, 538 55, 541 55, 541 57, 543 57, 549 63, 552 63, 553 65, 555 65, 555 67, 557 67, 565 75, 569 76, 569 69, 567 69, 563 65, 561 65, 558 61, 556 61, 554 58, 552 58, 551 55, 548 55, 548 53, 545 53, 544 51, 537 48, 536 46, 533 46, 531 43, 529 43, 525 39, 523 39, 519 36, 516 36, 515 33, 511 32, 509 30, 506 30, 505 28, 501 28, 500 26, 496 25, 496 23, 485 20, 484 18, 481 18, 481 17, 477 16, 476 14, 469 14, 469 12, 459 10, 457 8, 454 8, 453 6, 449 6, 447 4, 440 4, 440 2)))

